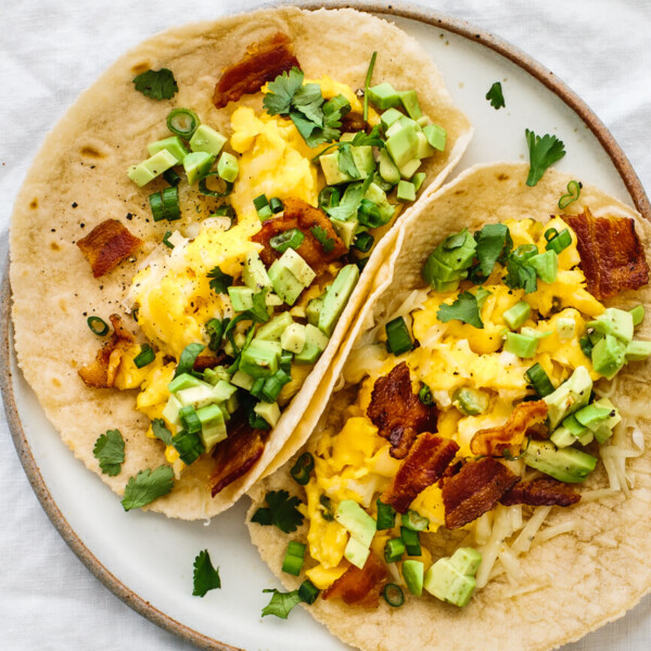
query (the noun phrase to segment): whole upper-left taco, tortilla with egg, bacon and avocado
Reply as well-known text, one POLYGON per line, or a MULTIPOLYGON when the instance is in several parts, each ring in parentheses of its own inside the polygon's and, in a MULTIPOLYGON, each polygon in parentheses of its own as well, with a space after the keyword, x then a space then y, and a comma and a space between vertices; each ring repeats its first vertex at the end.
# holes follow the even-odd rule
POLYGON ((471 131, 419 44, 353 10, 171 29, 81 95, 15 206, 15 347, 125 509, 206 518, 253 484, 471 131))

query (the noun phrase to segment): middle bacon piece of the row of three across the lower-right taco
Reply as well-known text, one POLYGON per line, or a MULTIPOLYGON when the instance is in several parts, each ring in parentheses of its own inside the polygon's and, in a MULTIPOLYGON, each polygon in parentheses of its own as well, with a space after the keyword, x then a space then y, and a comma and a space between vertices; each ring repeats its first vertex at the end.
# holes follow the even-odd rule
POLYGON ((497 500, 520 481, 506 465, 485 457, 469 461, 443 483, 445 525, 459 528, 493 509, 497 500))

